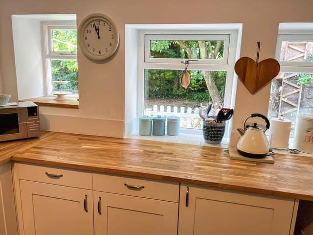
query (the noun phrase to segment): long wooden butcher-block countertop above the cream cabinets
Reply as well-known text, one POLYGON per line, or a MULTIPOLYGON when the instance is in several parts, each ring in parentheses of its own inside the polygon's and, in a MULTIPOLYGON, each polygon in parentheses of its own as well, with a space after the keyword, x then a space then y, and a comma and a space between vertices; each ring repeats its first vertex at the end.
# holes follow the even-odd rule
POLYGON ((277 154, 274 164, 254 163, 206 146, 44 132, 0 143, 0 164, 10 160, 313 201, 312 157, 277 154))

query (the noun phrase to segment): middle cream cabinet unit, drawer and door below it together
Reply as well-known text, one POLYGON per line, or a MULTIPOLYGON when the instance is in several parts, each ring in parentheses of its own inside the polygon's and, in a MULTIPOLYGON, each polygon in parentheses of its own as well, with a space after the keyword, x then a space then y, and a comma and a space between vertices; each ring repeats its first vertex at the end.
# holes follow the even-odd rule
POLYGON ((93 174, 95 235, 177 235, 179 183, 93 174))

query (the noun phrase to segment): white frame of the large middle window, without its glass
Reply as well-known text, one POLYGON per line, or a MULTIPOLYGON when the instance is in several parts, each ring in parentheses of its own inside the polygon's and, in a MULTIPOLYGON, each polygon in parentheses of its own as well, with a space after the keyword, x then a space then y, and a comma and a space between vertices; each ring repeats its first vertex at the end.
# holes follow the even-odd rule
MULTIPOLYGON (((167 59, 148 59, 150 57, 147 54, 147 40, 153 38, 162 38, 164 40, 171 38, 178 38, 177 35, 183 35, 186 38, 201 38, 206 37, 207 40, 213 40, 214 37, 226 40, 224 45, 224 58, 227 58, 227 63, 223 64, 219 60, 208 59, 193 61, 189 64, 188 70, 209 70, 209 71, 226 71, 226 84, 224 94, 224 107, 232 107, 234 105, 235 91, 233 91, 233 80, 234 80, 234 66, 236 62, 237 53, 237 41, 238 41, 238 30, 139 30, 138 32, 138 70, 137 70, 137 117, 142 117, 144 114, 144 70, 145 69, 163 69, 163 70, 184 70, 184 65, 181 63, 181 59, 169 60, 167 59), (147 37, 147 35, 149 35, 147 37), (213 36, 213 37, 212 37, 213 36), (229 41, 227 41, 227 39, 229 41), (227 43, 228 42, 228 43, 227 43), (228 48, 228 53, 225 48, 228 48), (148 59, 148 60, 147 60, 148 59), (163 60, 163 61, 162 61, 163 60), (215 62, 215 63, 214 63, 215 62)), ((150 43, 148 42, 148 45, 150 43)), ((150 53, 150 49, 149 49, 150 53)), ((229 134, 230 122, 227 123, 225 135, 229 134)), ((188 134, 202 134, 202 130, 181 128, 182 133, 188 134)))

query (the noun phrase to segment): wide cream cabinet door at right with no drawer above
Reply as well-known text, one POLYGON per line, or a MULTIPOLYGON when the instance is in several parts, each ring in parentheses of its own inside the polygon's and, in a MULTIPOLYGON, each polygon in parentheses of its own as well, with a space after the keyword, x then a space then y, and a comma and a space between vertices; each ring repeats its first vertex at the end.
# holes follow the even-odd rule
POLYGON ((181 185, 178 235, 288 235, 293 206, 294 199, 181 185))

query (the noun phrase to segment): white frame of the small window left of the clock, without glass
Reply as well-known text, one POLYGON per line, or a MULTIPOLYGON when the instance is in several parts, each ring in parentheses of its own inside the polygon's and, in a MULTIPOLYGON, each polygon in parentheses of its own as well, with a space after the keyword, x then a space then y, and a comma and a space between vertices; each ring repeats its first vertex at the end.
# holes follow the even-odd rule
MULTIPOLYGON (((77 52, 53 51, 53 29, 77 29, 76 21, 43 21, 43 62, 44 62, 44 85, 45 96, 52 94, 52 72, 51 59, 57 60, 77 60, 77 52)), ((67 95, 68 97, 78 98, 77 95, 67 95)))

